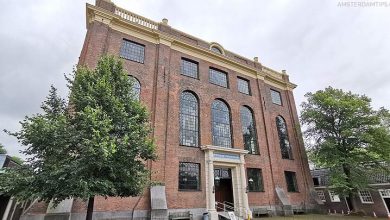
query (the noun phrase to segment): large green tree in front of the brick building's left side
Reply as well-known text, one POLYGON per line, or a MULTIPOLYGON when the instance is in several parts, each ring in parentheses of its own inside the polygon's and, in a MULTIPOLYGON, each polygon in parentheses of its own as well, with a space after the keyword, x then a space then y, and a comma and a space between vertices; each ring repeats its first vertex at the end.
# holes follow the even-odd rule
POLYGON ((69 103, 52 87, 22 129, 8 132, 27 146, 27 162, 0 176, 0 190, 25 200, 58 204, 95 196, 136 196, 148 181, 146 161, 155 159, 148 112, 134 97, 122 63, 102 57, 95 70, 78 67, 67 78, 69 103))

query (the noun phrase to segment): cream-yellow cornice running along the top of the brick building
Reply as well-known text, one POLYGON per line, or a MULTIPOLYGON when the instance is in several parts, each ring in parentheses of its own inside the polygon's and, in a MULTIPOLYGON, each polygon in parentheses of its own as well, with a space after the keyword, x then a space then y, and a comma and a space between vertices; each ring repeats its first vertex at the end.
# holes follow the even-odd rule
MULTIPOLYGON (((279 89, 293 90, 296 87, 295 84, 283 79, 282 73, 276 72, 268 67, 256 69, 255 67, 241 64, 230 57, 217 54, 208 48, 188 44, 176 36, 157 29, 143 26, 135 22, 130 22, 123 19, 121 16, 114 14, 113 12, 96 7, 94 5, 87 4, 86 15, 87 28, 89 28, 90 23, 93 21, 101 22, 108 25, 113 30, 132 35, 154 44, 167 45, 173 50, 177 50, 196 58, 215 63, 252 78, 264 80, 266 84, 277 87, 279 89)), ((141 18, 146 19, 143 17, 141 18)))

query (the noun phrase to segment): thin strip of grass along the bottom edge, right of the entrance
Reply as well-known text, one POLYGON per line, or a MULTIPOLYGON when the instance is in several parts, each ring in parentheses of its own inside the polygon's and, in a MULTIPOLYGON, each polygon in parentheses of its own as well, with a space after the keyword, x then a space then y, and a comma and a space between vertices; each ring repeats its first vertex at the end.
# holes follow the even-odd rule
MULTIPOLYGON (((255 218, 255 220, 344 220, 344 219, 378 219, 373 217, 360 217, 360 216, 345 216, 345 215, 318 215, 318 214, 307 214, 307 215, 294 215, 290 217, 283 217, 283 216, 275 216, 275 217, 263 217, 263 218, 255 218)), ((380 219, 387 219, 387 218, 380 218, 380 219)))

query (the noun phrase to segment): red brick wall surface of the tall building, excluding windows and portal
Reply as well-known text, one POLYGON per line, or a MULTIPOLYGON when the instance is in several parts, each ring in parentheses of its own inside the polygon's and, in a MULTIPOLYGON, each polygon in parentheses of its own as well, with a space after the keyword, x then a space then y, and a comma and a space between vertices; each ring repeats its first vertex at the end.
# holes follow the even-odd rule
MULTIPOLYGON (((124 38, 145 45, 144 64, 128 60, 123 60, 123 63, 129 74, 140 81, 142 103, 151 111, 151 124, 154 128, 153 136, 156 139, 158 159, 148 163, 148 166, 152 170, 152 180, 165 183, 170 209, 206 207, 204 152, 200 148, 180 146, 179 143, 179 99, 180 94, 185 90, 194 92, 199 99, 200 145, 212 144, 211 104, 215 99, 224 100, 231 111, 234 148, 243 149, 240 107, 245 105, 253 110, 260 155, 246 155, 246 167, 262 169, 265 191, 248 193, 251 206, 279 204, 275 194, 275 186, 284 188, 287 193, 285 170, 294 171, 297 174, 299 192, 287 193, 291 203, 301 204, 308 201, 308 188, 312 187, 312 182, 300 134, 297 133, 295 127, 298 118, 292 92, 281 91, 265 84, 262 80, 244 76, 214 63, 191 57, 172 50, 166 45, 155 45, 114 31, 107 25, 96 21, 89 25, 79 63, 94 68, 102 54, 119 56, 124 38), (199 79, 180 74, 182 57, 199 63, 199 79), (228 73, 229 88, 209 83, 210 67, 228 73), (238 92, 238 76, 249 80, 251 95, 238 92), (282 106, 272 104, 271 88, 281 92, 282 106), (283 116, 286 120, 294 160, 281 159, 275 125, 275 117, 278 115, 283 116), (178 190, 180 161, 201 164, 200 191, 182 192, 178 190)), ((248 65, 252 64, 248 63, 248 65)), ((256 65, 256 68, 260 68, 260 65, 256 65)), ((149 197, 148 190, 145 191, 141 199, 139 197, 107 199, 97 197, 94 208, 96 211, 125 211, 133 208, 145 210, 150 207, 149 197)), ((84 210, 85 203, 75 200, 73 211, 81 212, 84 210)))

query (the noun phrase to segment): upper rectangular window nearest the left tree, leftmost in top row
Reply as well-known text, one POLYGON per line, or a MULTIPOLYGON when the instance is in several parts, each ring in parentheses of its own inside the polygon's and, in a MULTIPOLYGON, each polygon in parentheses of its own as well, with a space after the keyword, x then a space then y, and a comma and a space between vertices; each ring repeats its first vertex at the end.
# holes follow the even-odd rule
POLYGON ((120 51, 120 57, 138 63, 144 63, 145 46, 134 43, 129 40, 123 40, 121 51, 120 51))

